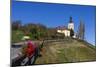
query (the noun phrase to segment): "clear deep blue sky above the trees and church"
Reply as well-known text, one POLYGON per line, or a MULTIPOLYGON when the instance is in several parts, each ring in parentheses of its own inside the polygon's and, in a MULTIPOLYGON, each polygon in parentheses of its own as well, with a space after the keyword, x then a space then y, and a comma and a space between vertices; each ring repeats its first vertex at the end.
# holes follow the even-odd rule
POLYGON ((47 27, 67 26, 72 16, 75 32, 80 20, 85 23, 85 38, 95 45, 96 7, 39 2, 12 2, 11 21, 20 20, 22 24, 41 23, 47 27))

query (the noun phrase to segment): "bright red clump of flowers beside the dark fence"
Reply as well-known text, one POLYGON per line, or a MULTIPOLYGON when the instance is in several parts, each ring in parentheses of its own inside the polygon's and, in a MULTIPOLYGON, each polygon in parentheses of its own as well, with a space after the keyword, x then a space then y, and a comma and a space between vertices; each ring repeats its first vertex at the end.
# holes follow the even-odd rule
POLYGON ((28 43, 28 46, 27 46, 27 49, 26 49, 26 54, 27 54, 27 56, 28 56, 29 58, 31 58, 32 55, 35 54, 35 50, 36 50, 36 45, 33 44, 33 43, 31 43, 31 42, 29 42, 29 43, 28 43))

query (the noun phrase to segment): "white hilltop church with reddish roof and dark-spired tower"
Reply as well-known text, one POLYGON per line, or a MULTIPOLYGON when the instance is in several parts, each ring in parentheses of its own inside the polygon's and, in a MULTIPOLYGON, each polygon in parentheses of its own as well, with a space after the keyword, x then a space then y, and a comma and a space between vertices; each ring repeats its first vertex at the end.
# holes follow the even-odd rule
MULTIPOLYGON (((58 33, 63 33, 65 35, 65 37, 70 37, 71 36, 70 35, 70 30, 74 31, 74 22, 72 20, 72 17, 70 17, 70 19, 69 19, 68 26, 63 26, 63 27, 59 26, 59 27, 57 27, 57 32, 58 33)), ((75 33, 74 33, 73 38, 75 38, 75 37, 76 36, 75 36, 75 33)))

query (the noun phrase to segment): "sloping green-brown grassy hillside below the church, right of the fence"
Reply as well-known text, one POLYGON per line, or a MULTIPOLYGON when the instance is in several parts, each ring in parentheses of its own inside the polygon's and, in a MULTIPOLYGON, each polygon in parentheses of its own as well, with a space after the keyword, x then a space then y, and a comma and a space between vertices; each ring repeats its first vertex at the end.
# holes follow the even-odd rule
POLYGON ((96 48, 87 42, 67 39, 45 43, 42 57, 35 64, 69 63, 96 60, 96 48))

